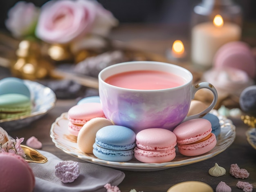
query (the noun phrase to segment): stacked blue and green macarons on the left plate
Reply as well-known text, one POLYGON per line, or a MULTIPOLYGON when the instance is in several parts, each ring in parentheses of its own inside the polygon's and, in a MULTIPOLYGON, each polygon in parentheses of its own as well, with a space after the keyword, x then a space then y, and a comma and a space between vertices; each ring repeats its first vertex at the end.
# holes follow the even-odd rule
POLYGON ((28 115, 32 110, 31 93, 22 79, 0 80, 0 119, 28 115))

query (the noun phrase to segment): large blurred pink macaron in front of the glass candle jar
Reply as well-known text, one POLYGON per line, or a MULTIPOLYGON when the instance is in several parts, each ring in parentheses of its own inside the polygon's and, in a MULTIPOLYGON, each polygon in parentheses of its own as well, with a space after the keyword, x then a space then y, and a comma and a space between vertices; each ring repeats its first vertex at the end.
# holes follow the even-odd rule
POLYGON ((213 58, 215 68, 237 68, 245 71, 249 77, 256 77, 256 61, 250 46, 241 41, 224 44, 213 58))

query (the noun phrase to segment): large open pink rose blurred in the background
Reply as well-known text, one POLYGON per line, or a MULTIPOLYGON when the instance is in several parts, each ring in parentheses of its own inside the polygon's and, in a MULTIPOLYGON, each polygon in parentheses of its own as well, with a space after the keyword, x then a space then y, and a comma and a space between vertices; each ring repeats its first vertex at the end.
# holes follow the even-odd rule
POLYGON ((92 32, 104 35, 116 23, 96 1, 52 0, 42 7, 36 35, 45 42, 68 43, 92 32))

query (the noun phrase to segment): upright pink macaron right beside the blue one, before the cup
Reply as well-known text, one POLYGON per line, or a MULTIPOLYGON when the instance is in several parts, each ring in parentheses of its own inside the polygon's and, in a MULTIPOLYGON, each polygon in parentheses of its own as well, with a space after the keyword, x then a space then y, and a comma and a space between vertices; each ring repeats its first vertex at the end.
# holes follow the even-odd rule
POLYGON ((176 136, 162 128, 148 128, 136 135, 134 156, 143 163, 164 163, 175 158, 176 136))

